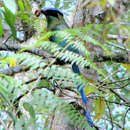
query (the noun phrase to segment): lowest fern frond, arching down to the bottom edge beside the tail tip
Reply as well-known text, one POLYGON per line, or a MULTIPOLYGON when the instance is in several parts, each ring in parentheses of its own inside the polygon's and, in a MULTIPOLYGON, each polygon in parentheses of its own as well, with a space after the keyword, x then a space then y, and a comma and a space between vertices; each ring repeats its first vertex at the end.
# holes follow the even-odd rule
POLYGON ((31 104, 33 104, 35 106, 35 103, 38 101, 44 101, 42 104, 36 104, 36 109, 37 111, 38 108, 43 108, 47 109, 47 113, 48 114, 52 114, 52 112, 54 113, 59 113, 65 115, 66 117, 68 117, 68 123, 70 124, 74 124, 75 127, 79 127, 80 128, 88 128, 93 130, 86 121, 86 118, 81 115, 81 113, 76 110, 71 104, 65 102, 63 99, 56 97, 55 95, 53 95, 52 93, 48 92, 47 90, 36 90, 33 94, 33 97, 35 97, 35 99, 33 98, 33 100, 31 101, 31 104), (39 95, 42 95, 41 97, 39 97, 39 95), (35 100, 35 102, 34 102, 35 100), (36 101, 37 100, 37 101, 36 101), (42 105, 39 107, 39 105, 42 105))

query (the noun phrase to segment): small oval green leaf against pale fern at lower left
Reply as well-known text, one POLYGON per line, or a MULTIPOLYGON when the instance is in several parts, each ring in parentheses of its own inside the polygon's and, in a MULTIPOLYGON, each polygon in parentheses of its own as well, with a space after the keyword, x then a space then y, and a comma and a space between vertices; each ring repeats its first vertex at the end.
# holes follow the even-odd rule
POLYGON ((25 108, 25 110, 27 110, 29 112, 30 116, 33 119, 35 119, 35 111, 33 109, 33 106, 30 103, 24 102, 23 107, 25 108))

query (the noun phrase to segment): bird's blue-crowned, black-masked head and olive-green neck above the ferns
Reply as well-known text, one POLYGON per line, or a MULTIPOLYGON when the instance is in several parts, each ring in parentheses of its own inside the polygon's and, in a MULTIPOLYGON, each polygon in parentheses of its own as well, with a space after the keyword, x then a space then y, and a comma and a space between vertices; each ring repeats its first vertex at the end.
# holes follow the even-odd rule
POLYGON ((68 28, 64 20, 63 13, 56 8, 41 9, 41 13, 46 16, 47 29, 49 31, 63 30, 68 28))

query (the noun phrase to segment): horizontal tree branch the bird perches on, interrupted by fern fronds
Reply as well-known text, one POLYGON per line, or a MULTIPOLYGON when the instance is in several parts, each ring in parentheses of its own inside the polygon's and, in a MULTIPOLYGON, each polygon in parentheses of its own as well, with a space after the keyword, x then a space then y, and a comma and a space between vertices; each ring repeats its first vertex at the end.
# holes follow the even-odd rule
MULTIPOLYGON (((43 56, 44 58, 55 58, 53 55, 48 54, 48 52, 43 51, 39 48, 27 48, 27 46, 22 46, 19 44, 1 44, 0 43, 0 50, 10 50, 10 51, 20 51, 21 49, 25 49, 24 52, 29 52, 38 56, 43 56), (26 49, 25 49, 26 48, 26 49)), ((105 54, 92 54, 92 60, 94 62, 106 62, 106 61, 113 61, 117 63, 126 63, 130 64, 129 56, 126 53, 112 53, 110 56, 106 56, 105 54)))

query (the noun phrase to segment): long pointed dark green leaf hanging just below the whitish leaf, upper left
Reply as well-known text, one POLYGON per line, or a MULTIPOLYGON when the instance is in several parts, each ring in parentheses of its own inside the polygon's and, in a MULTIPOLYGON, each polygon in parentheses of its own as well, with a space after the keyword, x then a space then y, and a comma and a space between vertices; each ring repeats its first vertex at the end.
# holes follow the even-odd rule
POLYGON ((6 6, 4 6, 4 8, 5 8, 5 11, 3 13, 5 16, 5 21, 10 26, 11 31, 13 33, 13 37, 16 38, 16 31, 15 31, 15 26, 14 26, 16 16, 6 6))

